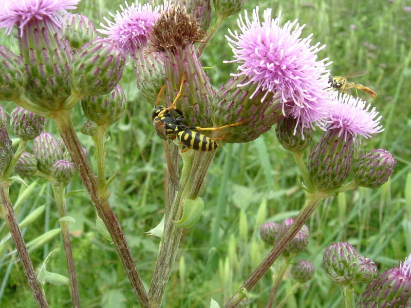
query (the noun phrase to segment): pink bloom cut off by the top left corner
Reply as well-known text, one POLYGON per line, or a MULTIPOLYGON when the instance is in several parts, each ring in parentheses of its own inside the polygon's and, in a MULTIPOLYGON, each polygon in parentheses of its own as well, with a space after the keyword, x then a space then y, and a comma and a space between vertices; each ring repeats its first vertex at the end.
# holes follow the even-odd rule
POLYGON ((14 25, 23 35, 24 27, 33 20, 50 22, 60 28, 66 10, 76 8, 80 0, 16 0, 2 2, 0 8, 0 28, 10 34, 14 25))

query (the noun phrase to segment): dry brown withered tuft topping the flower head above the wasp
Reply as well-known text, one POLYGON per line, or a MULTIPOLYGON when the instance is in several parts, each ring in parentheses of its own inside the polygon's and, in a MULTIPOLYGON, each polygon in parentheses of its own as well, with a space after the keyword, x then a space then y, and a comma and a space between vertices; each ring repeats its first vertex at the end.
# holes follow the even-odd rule
POLYGON ((190 44, 199 42, 201 36, 201 29, 196 18, 181 8, 172 7, 164 12, 154 24, 151 48, 152 51, 175 52, 176 48, 184 49, 190 44))

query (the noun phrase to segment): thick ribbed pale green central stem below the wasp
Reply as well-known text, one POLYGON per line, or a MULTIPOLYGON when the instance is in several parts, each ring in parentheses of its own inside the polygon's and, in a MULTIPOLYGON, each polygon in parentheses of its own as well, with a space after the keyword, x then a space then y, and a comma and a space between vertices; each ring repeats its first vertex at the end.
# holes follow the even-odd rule
MULTIPOLYGON (((178 246, 180 245, 183 229, 175 226, 172 221, 178 221, 180 219, 185 199, 197 198, 198 191, 200 190, 214 155, 215 151, 199 152, 194 150, 181 154, 184 164, 180 178, 182 191, 177 193, 169 215, 165 217, 163 239, 157 257, 153 279, 150 284, 150 291, 148 292, 154 308, 161 306, 165 286, 169 281, 178 246)), ((168 189, 173 189, 171 182, 169 183, 168 189)))

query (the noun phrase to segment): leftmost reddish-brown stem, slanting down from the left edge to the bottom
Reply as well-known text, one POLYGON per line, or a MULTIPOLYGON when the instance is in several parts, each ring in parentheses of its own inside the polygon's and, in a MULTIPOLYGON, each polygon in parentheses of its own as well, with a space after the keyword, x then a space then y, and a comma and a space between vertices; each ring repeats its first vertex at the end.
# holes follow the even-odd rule
POLYGON ((4 180, 3 178, 0 179, 0 216, 6 221, 10 230, 10 235, 14 241, 14 246, 16 247, 16 251, 22 262, 24 273, 27 276, 31 292, 33 293, 39 308, 48 308, 49 305, 43 293, 42 287, 40 286, 39 280, 37 279, 37 275, 34 272, 33 263, 31 263, 26 243, 24 242, 22 232, 18 226, 17 218, 10 200, 9 186, 9 181, 4 180))

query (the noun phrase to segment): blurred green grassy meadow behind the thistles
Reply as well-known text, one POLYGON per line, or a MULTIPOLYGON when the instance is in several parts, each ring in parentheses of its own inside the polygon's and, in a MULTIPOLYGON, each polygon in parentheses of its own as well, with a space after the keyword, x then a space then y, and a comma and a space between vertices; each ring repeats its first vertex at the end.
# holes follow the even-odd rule
MULTIPOLYGON (((120 1, 118 2, 120 3, 120 1)), ((397 166, 391 180, 379 189, 360 188, 323 202, 308 225, 311 230, 307 251, 296 259, 313 262, 316 272, 306 290, 292 297, 287 307, 343 307, 337 285, 325 276, 322 255, 333 242, 348 241, 361 255, 375 261, 383 271, 398 264, 411 253, 411 176, 410 176, 410 83, 411 6, 406 0, 346 1, 248 1, 263 9, 271 7, 273 17, 282 10, 282 24, 298 18, 306 24, 304 34, 311 32, 313 43, 326 44, 319 57, 329 57, 333 74, 345 75, 358 69, 368 74, 353 81, 368 85, 378 92, 369 100, 383 115, 385 130, 372 139, 361 140, 361 151, 386 148, 394 153, 397 166)), ((83 0, 78 12, 89 15, 98 27, 102 16, 115 11, 117 4, 102 0, 83 0)), ((213 38, 203 54, 203 66, 219 87, 235 71, 232 52, 227 44, 227 28, 237 29, 236 16, 231 16, 213 38)), ((7 40, 5 45, 16 45, 7 40)), ((111 184, 110 203, 121 221, 137 267, 146 285, 158 252, 159 239, 144 234, 163 216, 164 170, 162 141, 157 137, 150 118, 153 102, 142 101, 135 86, 132 66, 125 70, 121 85, 127 94, 125 116, 109 130, 107 172, 119 172, 111 184)), ((11 111, 13 104, 2 102, 11 111)), ((80 106, 73 110, 78 128, 84 120, 80 106)), ((51 121, 47 130, 55 132, 51 121)), ((320 131, 316 131, 318 138, 320 131)), ((80 136, 92 159, 94 147, 87 136, 80 136)), ((268 253, 258 235, 266 221, 281 221, 297 214, 304 195, 298 186, 298 170, 289 153, 279 146, 271 129, 247 144, 223 144, 209 170, 202 196, 206 208, 199 222, 183 233, 174 272, 167 286, 164 307, 208 307, 211 298, 221 306, 247 279, 268 253)), ((19 220, 45 204, 45 215, 24 229, 26 241, 58 227, 57 211, 50 187, 42 181, 33 190, 20 183, 11 186, 12 200, 25 196, 18 208, 19 220), (24 195, 26 193, 26 195, 24 195)), ((82 189, 76 175, 70 190, 82 189)), ((86 308, 138 307, 129 282, 113 245, 96 230, 95 210, 85 192, 68 199, 68 213, 76 219, 70 225, 82 306, 86 308)), ((0 225, 0 238, 7 232, 0 225)), ((40 267, 50 251, 60 248, 49 261, 48 270, 66 275, 60 235, 31 252, 40 267)), ((24 273, 15 254, 0 256, 0 307, 34 307, 24 273)), ((275 266, 274 266, 275 267, 275 266)), ((279 291, 281 298, 293 284, 286 274, 279 291)), ((266 274, 250 293, 251 307, 264 307, 271 287, 271 274, 266 274)), ((356 286, 357 296, 365 285, 356 286)), ((50 306, 70 307, 68 287, 47 284, 45 293, 50 306)))

